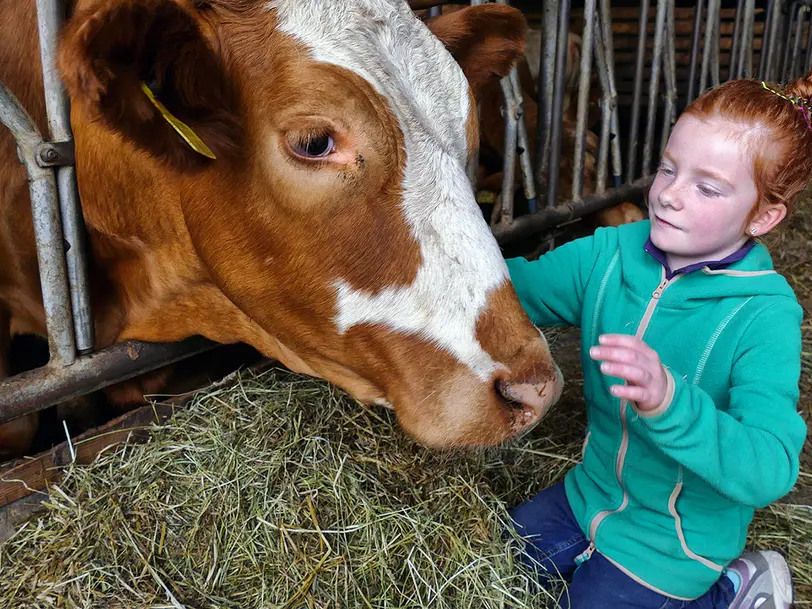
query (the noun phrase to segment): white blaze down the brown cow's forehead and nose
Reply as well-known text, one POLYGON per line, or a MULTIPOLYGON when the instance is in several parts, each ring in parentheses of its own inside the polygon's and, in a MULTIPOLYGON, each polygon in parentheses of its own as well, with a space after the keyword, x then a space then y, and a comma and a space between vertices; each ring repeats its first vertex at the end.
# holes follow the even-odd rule
POLYGON ((338 278, 339 331, 371 324, 417 335, 488 379, 501 366, 477 341, 476 322, 508 271, 465 171, 472 108, 462 69, 405 0, 272 0, 269 6, 279 31, 307 46, 314 60, 369 82, 403 133, 401 205, 422 265, 412 285, 374 294, 338 278))

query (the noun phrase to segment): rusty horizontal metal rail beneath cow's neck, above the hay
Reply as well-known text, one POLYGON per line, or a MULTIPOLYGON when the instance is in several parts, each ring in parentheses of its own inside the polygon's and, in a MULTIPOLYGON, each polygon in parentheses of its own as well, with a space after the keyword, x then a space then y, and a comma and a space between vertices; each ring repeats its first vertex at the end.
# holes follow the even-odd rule
POLYGON ((126 381, 217 346, 199 336, 177 343, 126 341, 65 368, 49 364, 0 381, 0 424, 126 381))

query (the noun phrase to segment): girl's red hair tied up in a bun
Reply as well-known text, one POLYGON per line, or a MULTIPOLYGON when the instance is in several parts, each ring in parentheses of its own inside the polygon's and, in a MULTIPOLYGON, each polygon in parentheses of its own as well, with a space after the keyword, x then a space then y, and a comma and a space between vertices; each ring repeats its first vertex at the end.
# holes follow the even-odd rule
MULTIPOLYGON (((786 86, 766 83, 786 97, 812 98, 812 72, 786 86)), ((705 92, 683 114, 700 120, 721 118, 742 127, 753 151, 753 181, 758 199, 755 216, 769 205, 783 204, 790 214, 812 176, 812 127, 800 104, 765 88, 760 80, 731 80, 705 92)))

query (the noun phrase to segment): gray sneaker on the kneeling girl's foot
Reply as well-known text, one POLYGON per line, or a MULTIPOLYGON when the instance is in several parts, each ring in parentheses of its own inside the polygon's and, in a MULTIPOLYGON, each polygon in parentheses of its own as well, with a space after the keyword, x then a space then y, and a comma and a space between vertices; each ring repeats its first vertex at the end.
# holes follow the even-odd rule
POLYGON ((790 609, 792 577, 778 552, 745 552, 727 567, 741 578, 730 609, 790 609))

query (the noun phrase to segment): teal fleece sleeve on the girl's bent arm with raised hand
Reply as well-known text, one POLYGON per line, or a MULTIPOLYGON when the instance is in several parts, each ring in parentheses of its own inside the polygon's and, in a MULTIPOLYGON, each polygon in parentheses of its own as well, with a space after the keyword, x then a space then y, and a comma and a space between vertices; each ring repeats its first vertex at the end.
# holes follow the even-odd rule
POLYGON ((727 411, 703 389, 676 378, 670 405, 654 416, 641 413, 646 433, 663 452, 752 508, 780 499, 798 478, 807 434, 797 409, 801 318, 797 302, 785 299, 750 323, 737 347, 727 411))

